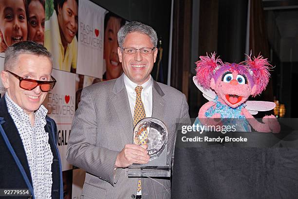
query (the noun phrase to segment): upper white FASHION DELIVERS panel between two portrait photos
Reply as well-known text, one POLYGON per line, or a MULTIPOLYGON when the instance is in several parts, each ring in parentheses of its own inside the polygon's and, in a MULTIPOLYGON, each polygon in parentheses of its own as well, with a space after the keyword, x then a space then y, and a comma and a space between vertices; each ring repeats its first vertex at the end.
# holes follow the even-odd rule
POLYGON ((105 12, 89 0, 79 1, 78 74, 102 78, 105 12))

